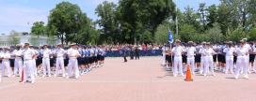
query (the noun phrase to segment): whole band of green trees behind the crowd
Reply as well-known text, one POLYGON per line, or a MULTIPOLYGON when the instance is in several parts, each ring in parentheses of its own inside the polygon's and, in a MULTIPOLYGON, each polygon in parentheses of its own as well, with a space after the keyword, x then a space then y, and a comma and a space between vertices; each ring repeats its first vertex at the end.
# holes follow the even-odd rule
POLYGON ((238 41, 242 37, 254 40, 255 9, 256 0, 220 0, 218 6, 201 3, 198 9, 185 7, 184 11, 176 11, 171 0, 105 1, 95 9, 99 20, 92 22, 77 5, 61 2, 50 11, 48 24, 35 22, 31 33, 81 44, 164 44, 168 42, 168 29, 184 42, 238 41), (179 36, 175 34, 175 17, 179 36))

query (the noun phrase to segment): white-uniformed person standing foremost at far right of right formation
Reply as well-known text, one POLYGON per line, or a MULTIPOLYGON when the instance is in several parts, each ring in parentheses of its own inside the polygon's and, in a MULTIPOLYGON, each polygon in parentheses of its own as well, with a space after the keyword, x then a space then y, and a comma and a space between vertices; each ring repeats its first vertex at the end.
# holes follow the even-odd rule
POLYGON ((248 48, 245 46, 245 41, 240 41, 240 47, 236 49, 237 54, 237 62, 235 67, 235 76, 234 79, 238 79, 241 70, 243 70, 243 74, 245 79, 248 79, 248 48))

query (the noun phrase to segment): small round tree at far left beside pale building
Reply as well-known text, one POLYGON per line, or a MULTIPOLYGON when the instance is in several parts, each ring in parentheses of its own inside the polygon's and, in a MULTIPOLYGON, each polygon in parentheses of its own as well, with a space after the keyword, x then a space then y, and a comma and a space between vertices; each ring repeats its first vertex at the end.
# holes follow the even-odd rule
POLYGON ((46 26, 44 26, 44 22, 34 22, 31 27, 31 34, 36 36, 43 36, 46 34, 46 26))

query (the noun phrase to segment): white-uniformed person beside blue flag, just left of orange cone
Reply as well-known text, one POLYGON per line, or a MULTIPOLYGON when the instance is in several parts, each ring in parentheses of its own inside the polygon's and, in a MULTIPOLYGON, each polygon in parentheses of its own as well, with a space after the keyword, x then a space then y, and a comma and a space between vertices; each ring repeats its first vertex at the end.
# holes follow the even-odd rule
POLYGON ((172 53, 174 55, 174 63, 173 63, 173 76, 177 77, 178 68, 180 76, 184 76, 183 72, 183 57, 182 53, 184 52, 183 47, 180 45, 181 40, 176 39, 176 46, 172 49, 172 53))

